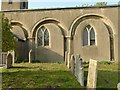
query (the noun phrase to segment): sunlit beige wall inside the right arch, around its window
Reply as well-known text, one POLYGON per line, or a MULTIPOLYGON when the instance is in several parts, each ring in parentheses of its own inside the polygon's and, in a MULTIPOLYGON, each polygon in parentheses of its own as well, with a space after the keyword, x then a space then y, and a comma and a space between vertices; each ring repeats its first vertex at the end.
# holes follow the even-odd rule
POLYGON ((110 60, 109 33, 103 22, 89 19, 81 22, 74 36, 74 54, 80 54, 83 60, 95 59, 98 61, 110 60), (90 24, 95 31, 95 45, 83 46, 83 30, 90 24))

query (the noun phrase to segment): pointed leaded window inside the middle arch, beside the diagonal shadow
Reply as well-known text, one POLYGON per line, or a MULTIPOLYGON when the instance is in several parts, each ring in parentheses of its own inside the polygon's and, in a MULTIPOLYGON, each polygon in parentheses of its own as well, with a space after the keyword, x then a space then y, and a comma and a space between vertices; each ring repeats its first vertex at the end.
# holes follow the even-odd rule
POLYGON ((49 46, 49 32, 46 27, 42 26, 37 34, 38 46, 49 46))

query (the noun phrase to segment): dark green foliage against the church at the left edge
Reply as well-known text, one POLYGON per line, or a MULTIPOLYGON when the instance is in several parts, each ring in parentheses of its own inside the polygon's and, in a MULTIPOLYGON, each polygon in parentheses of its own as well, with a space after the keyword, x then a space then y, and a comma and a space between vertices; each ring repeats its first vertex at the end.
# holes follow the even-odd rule
POLYGON ((10 32, 11 25, 9 20, 2 14, 2 51, 7 52, 15 49, 15 40, 13 34, 10 32))

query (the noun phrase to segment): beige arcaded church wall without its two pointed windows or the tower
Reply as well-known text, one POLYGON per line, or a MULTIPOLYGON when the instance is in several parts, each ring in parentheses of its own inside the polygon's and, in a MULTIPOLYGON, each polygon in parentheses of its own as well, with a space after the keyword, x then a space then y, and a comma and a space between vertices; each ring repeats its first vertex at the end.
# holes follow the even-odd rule
MULTIPOLYGON (((14 10, 4 12, 12 26, 19 26, 32 40, 29 50, 35 50, 35 60, 63 61, 65 46, 69 54, 80 54, 84 60, 118 61, 118 6, 86 7, 86 8, 58 8, 14 10), (114 16, 114 17, 113 17, 114 16), (96 45, 83 46, 82 31, 91 24, 96 32, 96 45), (46 26, 50 31, 51 46, 37 47, 36 33, 40 26, 46 26), (67 43, 65 43, 65 38, 67 43), (66 45, 67 44, 67 45, 66 45), (32 48, 31 48, 32 47, 32 48), (46 57, 47 56, 47 57, 46 57)), ((25 48, 26 50, 26 48, 25 48)), ((22 52, 23 59, 28 58, 28 52, 22 52), (27 53, 27 56, 25 56, 27 53)))

